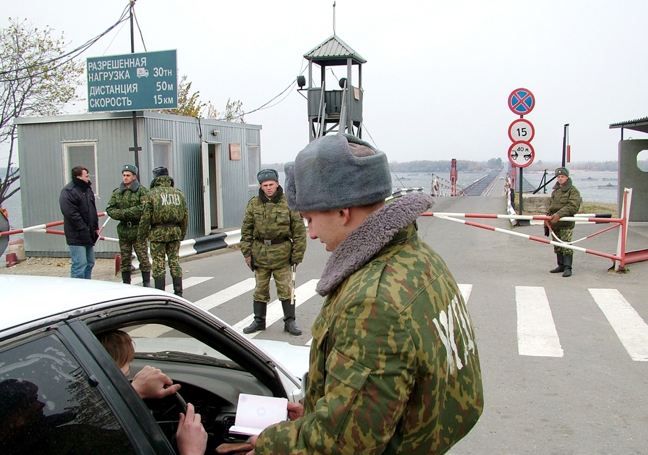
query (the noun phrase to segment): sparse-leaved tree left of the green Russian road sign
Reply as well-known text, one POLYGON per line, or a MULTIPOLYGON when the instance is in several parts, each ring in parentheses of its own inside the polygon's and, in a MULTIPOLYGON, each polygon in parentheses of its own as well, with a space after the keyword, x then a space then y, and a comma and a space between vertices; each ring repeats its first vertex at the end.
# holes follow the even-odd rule
POLYGON ((20 190, 12 189, 19 179, 13 162, 16 125, 22 116, 54 116, 79 97, 84 64, 65 54, 63 33, 52 36, 46 26, 39 30, 26 20, 9 20, 0 29, 0 144, 9 144, 7 171, 0 176, 0 206, 20 190))

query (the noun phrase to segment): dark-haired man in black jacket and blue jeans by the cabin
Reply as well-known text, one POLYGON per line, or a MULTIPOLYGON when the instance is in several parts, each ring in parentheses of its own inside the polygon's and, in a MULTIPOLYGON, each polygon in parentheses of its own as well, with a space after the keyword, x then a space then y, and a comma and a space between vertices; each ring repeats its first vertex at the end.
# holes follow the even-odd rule
POLYGON ((65 241, 70 247, 72 278, 91 279, 95 266, 95 242, 99 238, 99 217, 88 169, 72 168, 72 181, 59 197, 65 241))

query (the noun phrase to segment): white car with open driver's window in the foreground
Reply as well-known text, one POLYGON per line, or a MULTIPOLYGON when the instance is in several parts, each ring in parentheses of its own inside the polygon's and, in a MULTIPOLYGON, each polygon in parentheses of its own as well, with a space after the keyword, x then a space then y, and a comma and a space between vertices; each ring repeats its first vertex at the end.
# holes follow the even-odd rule
POLYGON ((0 314, 1 454, 174 453, 181 399, 139 399, 95 337, 108 330, 134 340, 131 376, 151 365, 180 383, 208 433, 206 453, 241 440, 229 433, 239 394, 302 398, 308 348, 279 341, 261 348, 154 288, 0 275, 0 314))

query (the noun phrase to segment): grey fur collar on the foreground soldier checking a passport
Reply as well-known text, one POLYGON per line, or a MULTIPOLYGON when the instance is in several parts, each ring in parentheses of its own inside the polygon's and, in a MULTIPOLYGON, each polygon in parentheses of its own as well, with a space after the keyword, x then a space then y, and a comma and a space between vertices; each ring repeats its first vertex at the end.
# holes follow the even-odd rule
POLYGON ((360 270, 383 249, 396 233, 431 208, 433 203, 432 197, 427 194, 406 194, 369 215, 360 227, 334 249, 316 292, 319 295, 332 293, 341 282, 360 270))

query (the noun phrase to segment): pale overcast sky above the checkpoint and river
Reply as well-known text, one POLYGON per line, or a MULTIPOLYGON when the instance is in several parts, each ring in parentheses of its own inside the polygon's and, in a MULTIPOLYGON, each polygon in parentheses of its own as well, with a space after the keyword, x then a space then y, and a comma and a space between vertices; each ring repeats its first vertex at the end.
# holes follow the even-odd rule
MULTIPOLYGON (((252 111, 307 75, 303 55, 333 34, 332 3, 137 0, 135 15, 146 50, 177 49, 178 75, 188 76, 203 102, 224 109, 231 98, 252 111)), ((8 17, 49 25, 72 49, 114 24, 127 5, 0 0, 0 27, 8 17)), ((516 119, 508 99, 519 87, 536 100, 525 116, 535 128, 536 160, 561 160, 569 123, 572 161, 600 161, 617 160, 620 130, 610 123, 648 116, 647 20, 645 0, 337 0, 335 31, 367 60, 363 138, 389 161, 507 160, 516 119)), ((144 52, 139 31, 135 51, 144 52)), ((129 52, 127 21, 83 57, 129 52)), ((344 67, 333 72, 346 76, 344 67)), ((295 87, 272 104, 278 101, 245 116, 263 126, 264 163, 293 160, 308 143, 306 100, 295 87)), ((82 102, 68 112, 86 109, 82 102)))

